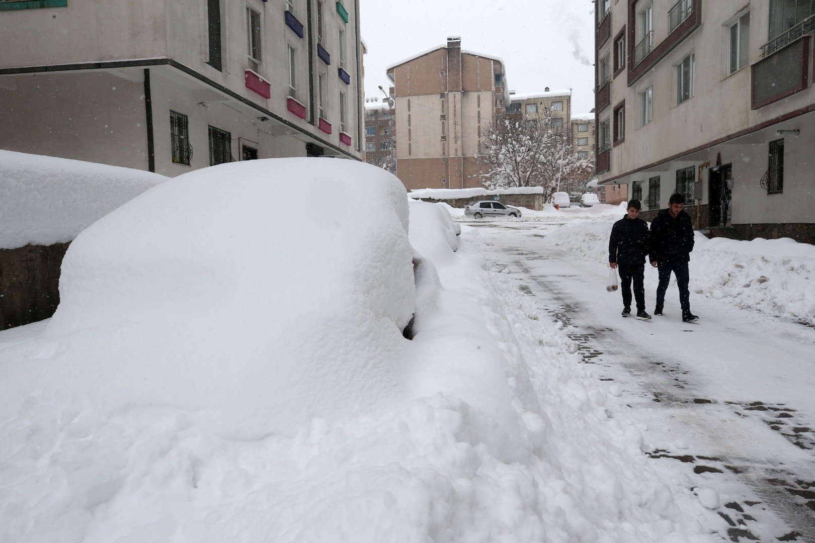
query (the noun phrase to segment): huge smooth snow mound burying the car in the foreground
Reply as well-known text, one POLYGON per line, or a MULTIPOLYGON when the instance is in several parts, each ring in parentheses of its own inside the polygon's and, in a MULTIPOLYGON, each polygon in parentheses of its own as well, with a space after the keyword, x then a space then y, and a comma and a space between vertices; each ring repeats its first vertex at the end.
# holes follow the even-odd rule
POLYGON ((187 173, 83 231, 59 292, 42 352, 3 379, 4 408, 38 388, 107 412, 206 409, 242 439, 357 414, 400 393, 405 191, 346 160, 187 173))

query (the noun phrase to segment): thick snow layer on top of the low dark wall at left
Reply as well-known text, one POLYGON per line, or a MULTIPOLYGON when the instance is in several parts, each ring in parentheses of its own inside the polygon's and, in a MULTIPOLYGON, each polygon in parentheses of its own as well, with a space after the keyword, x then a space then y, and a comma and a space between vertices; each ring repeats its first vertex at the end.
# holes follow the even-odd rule
POLYGON ((0 150, 0 248, 71 241, 166 179, 136 169, 0 150))

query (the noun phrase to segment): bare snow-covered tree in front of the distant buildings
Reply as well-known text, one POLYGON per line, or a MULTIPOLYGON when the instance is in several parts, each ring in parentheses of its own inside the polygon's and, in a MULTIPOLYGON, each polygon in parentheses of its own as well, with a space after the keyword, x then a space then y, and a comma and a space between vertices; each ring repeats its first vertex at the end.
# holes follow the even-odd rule
POLYGON ((565 190, 564 183, 584 189, 591 177, 582 180, 593 171, 593 157, 579 158, 568 123, 549 110, 531 120, 499 117, 484 133, 477 156, 486 166, 481 179, 487 188, 543 186, 545 197, 565 190))

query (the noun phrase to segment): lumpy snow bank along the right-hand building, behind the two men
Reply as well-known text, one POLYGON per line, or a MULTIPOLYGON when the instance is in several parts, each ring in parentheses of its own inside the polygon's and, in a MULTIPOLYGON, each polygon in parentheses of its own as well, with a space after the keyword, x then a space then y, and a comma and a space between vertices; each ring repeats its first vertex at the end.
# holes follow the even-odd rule
MULTIPOLYGON (((548 243, 607 265, 612 224, 575 222, 549 234, 548 243)), ((698 232, 695 240, 690 253, 690 291, 815 325, 815 247, 788 238, 707 239, 698 232)), ((645 277, 655 288, 655 274, 645 277)))

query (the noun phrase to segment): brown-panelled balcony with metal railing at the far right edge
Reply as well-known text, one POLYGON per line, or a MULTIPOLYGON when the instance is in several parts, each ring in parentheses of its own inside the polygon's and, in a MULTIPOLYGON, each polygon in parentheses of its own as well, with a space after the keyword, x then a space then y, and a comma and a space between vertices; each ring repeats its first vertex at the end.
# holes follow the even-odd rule
POLYGON ((752 65, 751 109, 778 102, 807 88, 811 40, 812 37, 804 36, 788 42, 752 65))

